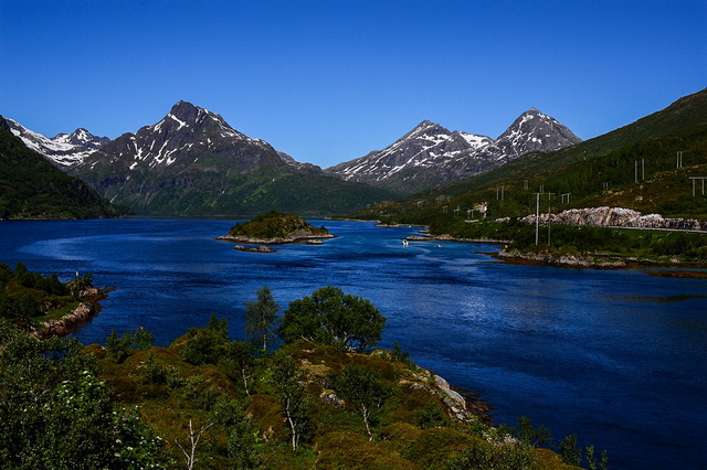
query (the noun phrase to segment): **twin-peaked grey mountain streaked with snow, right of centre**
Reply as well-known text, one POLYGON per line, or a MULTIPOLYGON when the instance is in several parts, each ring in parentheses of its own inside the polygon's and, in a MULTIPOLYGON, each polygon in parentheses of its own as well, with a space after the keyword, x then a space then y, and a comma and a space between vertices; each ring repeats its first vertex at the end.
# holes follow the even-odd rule
POLYGON ((367 182, 401 194, 439 186, 490 171, 529 151, 549 151, 580 142, 556 119, 532 108, 496 140, 422 121, 380 151, 325 170, 347 181, 367 182))

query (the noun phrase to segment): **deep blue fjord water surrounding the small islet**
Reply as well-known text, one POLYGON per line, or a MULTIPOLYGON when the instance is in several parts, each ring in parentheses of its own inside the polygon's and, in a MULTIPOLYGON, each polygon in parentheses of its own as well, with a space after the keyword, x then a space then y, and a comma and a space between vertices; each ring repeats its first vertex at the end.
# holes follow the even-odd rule
POLYGON ((416 228, 371 223, 315 221, 338 238, 241 253, 214 239, 232 223, 6 221, 0 261, 115 287, 77 330, 84 344, 145 327, 167 345, 212 313, 240 339, 264 285, 283 307, 334 285, 388 318, 382 346, 479 393, 498 423, 576 434, 610 468, 707 468, 707 280, 500 264, 481 253, 493 245, 405 247, 416 228))

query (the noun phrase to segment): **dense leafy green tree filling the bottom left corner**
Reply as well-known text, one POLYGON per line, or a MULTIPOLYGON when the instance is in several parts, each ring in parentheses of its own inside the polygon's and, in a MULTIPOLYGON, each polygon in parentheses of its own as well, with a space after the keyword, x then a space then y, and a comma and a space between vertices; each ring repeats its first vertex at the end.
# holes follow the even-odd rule
POLYGON ((167 463, 139 410, 113 402, 75 339, 39 341, 0 322, 3 468, 148 468, 167 463))

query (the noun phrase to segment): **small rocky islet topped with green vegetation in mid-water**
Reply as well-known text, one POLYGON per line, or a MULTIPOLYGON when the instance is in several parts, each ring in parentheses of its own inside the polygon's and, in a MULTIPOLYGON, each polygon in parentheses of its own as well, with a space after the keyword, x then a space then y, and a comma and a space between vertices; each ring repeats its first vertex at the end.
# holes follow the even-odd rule
MULTIPOLYGON (((334 238, 334 235, 325 227, 317 228, 297 215, 271 211, 257 215, 250 222, 233 225, 228 235, 220 236, 218 239, 251 245, 283 245, 319 238, 334 238)), ((235 249, 245 250, 241 245, 235 249)), ((256 252, 263 253, 261 249, 256 252)))

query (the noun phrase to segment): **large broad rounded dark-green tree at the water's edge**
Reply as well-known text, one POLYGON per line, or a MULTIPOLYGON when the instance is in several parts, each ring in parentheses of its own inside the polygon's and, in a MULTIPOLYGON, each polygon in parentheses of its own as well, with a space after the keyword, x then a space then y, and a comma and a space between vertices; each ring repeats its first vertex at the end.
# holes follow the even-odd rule
POLYGON ((384 324, 370 301, 328 286, 289 303, 279 335, 285 342, 304 339, 362 351, 380 341, 384 324))

